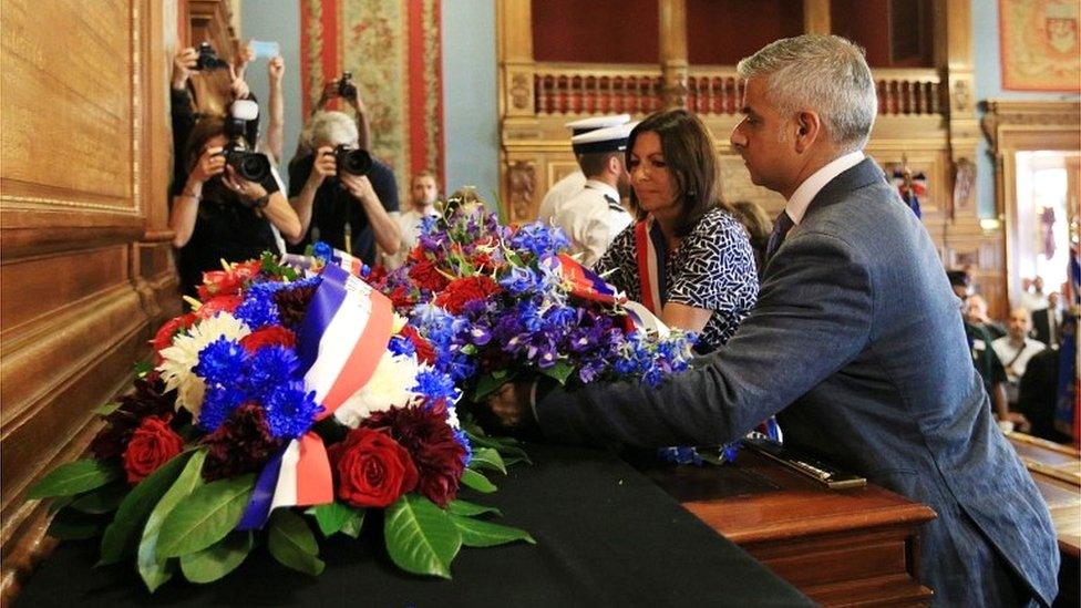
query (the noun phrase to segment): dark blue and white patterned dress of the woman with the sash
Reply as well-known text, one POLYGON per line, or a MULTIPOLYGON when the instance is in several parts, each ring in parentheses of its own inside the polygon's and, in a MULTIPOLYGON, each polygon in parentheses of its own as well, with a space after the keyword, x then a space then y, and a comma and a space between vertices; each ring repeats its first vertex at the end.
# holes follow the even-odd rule
MULTIPOLYGON (((634 225, 615 238, 594 270, 628 298, 642 301, 634 225)), ((701 353, 715 350, 732 337, 759 293, 747 231, 720 208, 702 216, 679 249, 665 255, 663 279, 663 302, 713 311, 699 336, 697 350, 701 353)))

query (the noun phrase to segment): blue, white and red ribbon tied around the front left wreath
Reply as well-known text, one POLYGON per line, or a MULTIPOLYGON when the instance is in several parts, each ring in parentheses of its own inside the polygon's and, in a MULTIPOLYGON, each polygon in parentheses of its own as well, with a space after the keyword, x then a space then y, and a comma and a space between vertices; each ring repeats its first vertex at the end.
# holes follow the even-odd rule
MULTIPOLYGON (((297 332, 297 354, 305 385, 334 413, 372 377, 393 328, 390 300, 339 265, 322 270, 322 282, 297 332)), ((256 481, 237 529, 258 529, 280 506, 331 503, 333 481, 327 449, 309 431, 292 440, 256 481)))

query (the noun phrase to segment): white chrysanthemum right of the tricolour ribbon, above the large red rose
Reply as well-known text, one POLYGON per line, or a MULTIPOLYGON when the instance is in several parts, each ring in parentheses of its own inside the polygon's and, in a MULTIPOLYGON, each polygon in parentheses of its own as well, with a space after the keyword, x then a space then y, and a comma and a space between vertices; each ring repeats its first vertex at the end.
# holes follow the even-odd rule
POLYGON ((419 369, 413 354, 384 352, 371 380, 334 411, 334 418, 346 426, 356 429, 375 412, 408 404, 418 396, 410 389, 416 387, 419 369))

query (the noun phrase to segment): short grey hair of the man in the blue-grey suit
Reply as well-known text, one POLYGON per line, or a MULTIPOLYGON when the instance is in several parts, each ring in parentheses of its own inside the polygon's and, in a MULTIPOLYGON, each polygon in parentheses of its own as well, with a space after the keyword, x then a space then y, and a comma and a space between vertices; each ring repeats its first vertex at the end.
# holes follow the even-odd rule
POLYGON ((867 144, 878 94, 857 44, 838 35, 785 38, 741 60, 735 71, 742 79, 765 79, 766 96, 782 113, 817 112, 846 152, 867 144))

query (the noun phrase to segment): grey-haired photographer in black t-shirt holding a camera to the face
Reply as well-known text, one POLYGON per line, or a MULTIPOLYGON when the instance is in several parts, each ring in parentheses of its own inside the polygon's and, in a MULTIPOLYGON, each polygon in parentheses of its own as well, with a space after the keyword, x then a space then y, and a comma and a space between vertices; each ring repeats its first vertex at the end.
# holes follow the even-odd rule
POLYGON ((313 153, 289 163, 289 203, 307 233, 374 266, 375 245, 394 254, 401 245, 394 173, 371 158, 366 174, 339 166, 337 155, 358 146, 357 125, 341 112, 317 112, 309 122, 313 153), (347 230, 349 237, 347 239, 347 230))

